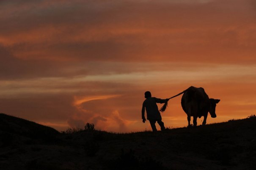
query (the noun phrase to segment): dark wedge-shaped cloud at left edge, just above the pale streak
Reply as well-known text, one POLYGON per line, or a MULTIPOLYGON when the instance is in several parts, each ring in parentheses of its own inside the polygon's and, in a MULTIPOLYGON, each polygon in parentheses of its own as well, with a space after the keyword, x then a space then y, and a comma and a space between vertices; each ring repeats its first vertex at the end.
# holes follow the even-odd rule
POLYGON ((69 63, 17 58, 6 47, 1 45, 0 56, 0 80, 24 80, 44 77, 66 77, 81 73, 86 74, 85 69, 74 69, 69 63))

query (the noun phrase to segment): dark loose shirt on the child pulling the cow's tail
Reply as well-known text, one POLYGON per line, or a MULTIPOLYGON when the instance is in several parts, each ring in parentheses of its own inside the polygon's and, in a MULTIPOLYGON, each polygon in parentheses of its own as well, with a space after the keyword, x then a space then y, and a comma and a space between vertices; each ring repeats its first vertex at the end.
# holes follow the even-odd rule
POLYGON ((145 108, 148 120, 162 120, 157 103, 165 103, 165 99, 148 97, 142 104, 142 119, 145 118, 145 108))

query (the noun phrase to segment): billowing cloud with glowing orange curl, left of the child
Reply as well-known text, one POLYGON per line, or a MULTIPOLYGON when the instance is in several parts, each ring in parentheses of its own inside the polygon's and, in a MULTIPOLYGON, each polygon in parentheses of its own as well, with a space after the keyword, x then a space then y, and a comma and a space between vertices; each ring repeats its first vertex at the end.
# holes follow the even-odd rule
POLYGON ((91 96, 80 99, 75 96, 74 107, 79 110, 79 113, 73 114, 68 123, 70 126, 80 127, 81 124, 89 122, 94 123, 98 129, 112 132, 129 132, 127 126, 136 121, 123 117, 125 112, 121 107, 131 107, 132 105, 129 104, 131 101, 127 103, 125 99, 121 99, 122 102, 118 103, 118 100, 120 100, 118 95, 91 96), (129 106, 124 105, 124 103, 129 104, 129 106), (121 110, 123 114, 119 114, 116 109, 121 110))

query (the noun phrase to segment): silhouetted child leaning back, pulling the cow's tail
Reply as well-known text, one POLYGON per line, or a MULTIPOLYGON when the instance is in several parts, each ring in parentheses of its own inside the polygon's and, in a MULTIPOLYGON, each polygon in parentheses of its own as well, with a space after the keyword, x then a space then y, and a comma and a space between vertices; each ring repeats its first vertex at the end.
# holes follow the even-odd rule
POLYGON ((142 122, 145 123, 146 118, 145 118, 145 107, 146 107, 146 112, 147 112, 147 119, 149 120, 149 123, 151 125, 151 128, 153 132, 157 131, 155 123, 157 122, 161 130, 165 130, 165 125, 162 122, 162 117, 160 115, 160 112, 157 107, 157 103, 165 103, 169 101, 169 99, 158 99, 156 97, 151 97, 150 91, 145 92, 145 101, 142 104, 142 122))

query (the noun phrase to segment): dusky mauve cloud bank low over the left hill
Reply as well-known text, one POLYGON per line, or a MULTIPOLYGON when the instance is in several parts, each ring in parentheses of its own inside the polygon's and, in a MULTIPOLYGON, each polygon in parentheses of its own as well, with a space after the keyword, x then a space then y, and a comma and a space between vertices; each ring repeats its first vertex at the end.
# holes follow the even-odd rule
POLYGON ((66 94, 1 97, 0 108, 0 112, 40 122, 63 122, 77 112, 66 94))

